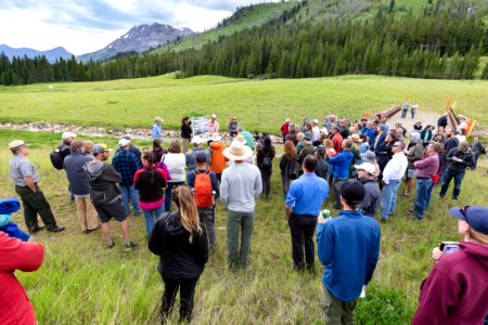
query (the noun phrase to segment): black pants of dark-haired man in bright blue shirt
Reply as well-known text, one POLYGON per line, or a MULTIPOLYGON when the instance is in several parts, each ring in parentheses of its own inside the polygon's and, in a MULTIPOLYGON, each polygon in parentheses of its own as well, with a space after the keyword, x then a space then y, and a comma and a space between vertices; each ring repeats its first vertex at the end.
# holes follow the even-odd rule
POLYGON ((313 270, 316 249, 313 246, 313 233, 317 226, 316 216, 299 216, 292 214, 288 219, 290 231, 292 233, 292 255, 293 266, 296 270, 303 270, 304 249, 305 259, 307 261, 307 269, 313 270))

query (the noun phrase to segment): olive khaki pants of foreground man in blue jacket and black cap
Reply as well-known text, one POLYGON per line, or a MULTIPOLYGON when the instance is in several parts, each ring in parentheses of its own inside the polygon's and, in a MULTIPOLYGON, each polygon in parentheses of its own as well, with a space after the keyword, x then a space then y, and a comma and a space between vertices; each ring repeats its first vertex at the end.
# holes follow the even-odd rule
POLYGON ((357 299, 344 302, 329 292, 322 284, 322 308, 325 313, 325 325, 356 324, 355 308, 357 299))

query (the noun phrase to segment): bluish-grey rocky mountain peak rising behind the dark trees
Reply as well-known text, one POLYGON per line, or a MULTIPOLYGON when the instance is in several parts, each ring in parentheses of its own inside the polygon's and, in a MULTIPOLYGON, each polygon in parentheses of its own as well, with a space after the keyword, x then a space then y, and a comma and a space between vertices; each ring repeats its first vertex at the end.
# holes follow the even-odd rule
POLYGON ((87 62, 103 61, 124 52, 144 52, 152 48, 174 42, 195 34, 188 27, 175 28, 157 22, 149 25, 142 24, 130 28, 126 34, 107 44, 104 49, 78 56, 87 62))

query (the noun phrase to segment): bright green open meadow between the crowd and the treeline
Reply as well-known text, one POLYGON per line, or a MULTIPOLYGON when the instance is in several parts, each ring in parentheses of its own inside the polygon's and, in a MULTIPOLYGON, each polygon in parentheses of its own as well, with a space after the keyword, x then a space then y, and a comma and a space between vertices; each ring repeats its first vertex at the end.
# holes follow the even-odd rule
POLYGON ((0 88, 0 121, 53 121, 108 129, 151 127, 155 116, 177 129, 181 118, 216 113, 222 126, 235 115, 248 130, 275 131, 286 117, 322 117, 330 109, 349 118, 382 112, 406 95, 419 109, 455 112, 488 123, 488 81, 426 80, 378 76, 248 80, 216 76, 175 79, 172 74, 105 82, 0 88))

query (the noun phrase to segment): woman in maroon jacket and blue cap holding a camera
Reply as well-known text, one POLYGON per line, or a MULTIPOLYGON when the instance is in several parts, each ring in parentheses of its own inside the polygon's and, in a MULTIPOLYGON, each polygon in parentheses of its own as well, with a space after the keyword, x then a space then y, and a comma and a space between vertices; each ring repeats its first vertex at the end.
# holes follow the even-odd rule
POLYGON ((449 213, 459 219, 464 240, 455 252, 434 250, 439 261, 422 286, 413 325, 480 325, 488 314, 488 208, 458 207, 449 213))

